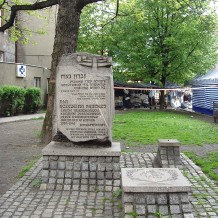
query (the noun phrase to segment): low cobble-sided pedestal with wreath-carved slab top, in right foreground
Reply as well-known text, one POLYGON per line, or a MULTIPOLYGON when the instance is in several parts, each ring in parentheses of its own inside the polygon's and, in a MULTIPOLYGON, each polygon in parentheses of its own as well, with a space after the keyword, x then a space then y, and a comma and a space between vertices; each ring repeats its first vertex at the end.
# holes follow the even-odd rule
POLYGON ((124 217, 192 218, 191 187, 178 169, 123 168, 124 217))

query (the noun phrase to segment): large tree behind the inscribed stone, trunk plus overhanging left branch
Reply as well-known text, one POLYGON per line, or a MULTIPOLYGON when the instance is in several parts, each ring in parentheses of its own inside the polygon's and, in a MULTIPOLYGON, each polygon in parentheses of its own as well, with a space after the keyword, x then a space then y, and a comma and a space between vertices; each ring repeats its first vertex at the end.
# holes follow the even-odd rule
POLYGON ((8 17, 2 17, 5 24, 0 27, 0 31, 5 31, 13 27, 18 11, 39 10, 59 4, 52 53, 47 112, 42 128, 42 140, 44 143, 48 143, 52 139, 52 113, 54 108, 57 64, 63 54, 74 53, 76 51, 82 9, 86 5, 98 1, 100 0, 47 0, 28 4, 17 0, 11 1, 10 3, 7 0, 0 0, 0 10, 5 9, 10 11, 8 17))

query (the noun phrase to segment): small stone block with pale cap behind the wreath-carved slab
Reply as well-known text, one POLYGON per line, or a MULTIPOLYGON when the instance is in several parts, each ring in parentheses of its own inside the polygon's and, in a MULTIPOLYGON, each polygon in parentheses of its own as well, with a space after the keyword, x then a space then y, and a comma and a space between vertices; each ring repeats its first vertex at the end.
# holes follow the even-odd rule
POLYGON ((176 139, 159 139, 155 167, 175 168, 181 164, 180 143, 176 139))

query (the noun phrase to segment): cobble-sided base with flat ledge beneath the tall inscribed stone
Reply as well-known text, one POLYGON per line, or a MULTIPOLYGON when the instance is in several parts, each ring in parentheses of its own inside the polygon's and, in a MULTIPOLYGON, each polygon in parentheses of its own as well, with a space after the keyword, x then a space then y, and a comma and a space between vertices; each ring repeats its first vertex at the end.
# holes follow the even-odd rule
POLYGON ((105 148, 53 141, 42 154, 41 189, 87 190, 99 185, 112 191, 120 186, 120 143, 105 148))

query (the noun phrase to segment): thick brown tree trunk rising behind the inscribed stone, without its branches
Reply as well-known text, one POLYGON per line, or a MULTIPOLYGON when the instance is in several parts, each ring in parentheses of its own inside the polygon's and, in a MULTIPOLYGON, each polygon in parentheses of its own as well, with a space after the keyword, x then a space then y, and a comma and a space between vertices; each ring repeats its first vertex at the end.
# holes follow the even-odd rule
POLYGON ((42 127, 42 142, 52 139, 52 114, 55 97, 56 68, 61 56, 74 53, 77 47, 80 14, 83 6, 81 0, 60 0, 52 53, 51 76, 46 117, 42 127))

